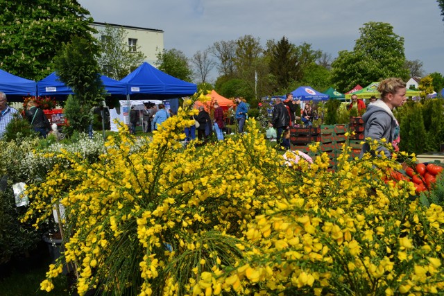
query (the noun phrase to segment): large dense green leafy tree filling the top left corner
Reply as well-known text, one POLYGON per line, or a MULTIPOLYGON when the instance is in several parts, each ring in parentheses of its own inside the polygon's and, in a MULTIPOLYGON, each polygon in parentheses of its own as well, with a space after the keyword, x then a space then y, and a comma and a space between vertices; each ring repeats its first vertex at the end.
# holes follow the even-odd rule
POLYGON ((92 41, 88 10, 77 1, 1 1, 1 69, 40 80, 53 71, 60 44, 71 36, 92 41))

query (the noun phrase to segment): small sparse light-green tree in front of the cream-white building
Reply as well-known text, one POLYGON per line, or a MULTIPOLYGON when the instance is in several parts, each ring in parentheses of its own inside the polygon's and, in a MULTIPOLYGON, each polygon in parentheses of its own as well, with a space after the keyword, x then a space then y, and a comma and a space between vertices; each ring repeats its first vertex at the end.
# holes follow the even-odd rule
POLYGON ((131 69, 139 67, 146 58, 139 50, 140 46, 135 51, 128 50, 127 35, 122 27, 115 28, 107 24, 100 40, 99 66, 104 75, 115 80, 127 76, 131 69))

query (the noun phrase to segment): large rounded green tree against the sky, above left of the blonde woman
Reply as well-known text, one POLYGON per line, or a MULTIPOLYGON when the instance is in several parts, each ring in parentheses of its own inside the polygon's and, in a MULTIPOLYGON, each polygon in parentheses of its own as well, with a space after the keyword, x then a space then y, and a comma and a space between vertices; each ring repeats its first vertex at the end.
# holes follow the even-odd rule
POLYGON ((393 33, 393 26, 370 21, 359 31, 353 51, 340 51, 332 63, 336 88, 344 90, 383 78, 409 77, 404 68, 404 38, 393 33))

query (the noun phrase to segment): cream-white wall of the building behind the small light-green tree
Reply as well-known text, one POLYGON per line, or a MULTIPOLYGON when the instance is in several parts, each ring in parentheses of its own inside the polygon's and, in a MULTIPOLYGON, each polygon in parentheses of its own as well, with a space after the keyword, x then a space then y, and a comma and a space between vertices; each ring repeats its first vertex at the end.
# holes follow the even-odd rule
MULTIPOLYGON (((140 51, 146 56, 145 62, 155 66, 157 61, 156 55, 164 50, 164 31, 151 29, 151 28, 139 28, 133 26, 123 26, 118 24, 108 24, 114 27, 122 27, 128 35, 126 35, 126 44, 128 39, 137 39, 137 46, 140 47, 140 51)), ((101 35, 105 31, 105 23, 94 22, 92 27, 99 33, 94 34, 98 40, 101 40, 101 35)))

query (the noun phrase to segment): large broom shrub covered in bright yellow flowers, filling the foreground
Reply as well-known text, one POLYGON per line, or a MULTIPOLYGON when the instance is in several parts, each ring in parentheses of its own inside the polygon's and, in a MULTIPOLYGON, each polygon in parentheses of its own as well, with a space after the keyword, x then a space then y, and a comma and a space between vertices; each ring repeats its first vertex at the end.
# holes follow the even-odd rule
MULTIPOLYGON (((343 148, 335 173, 325 154, 288 167, 254 121, 248 134, 182 148, 194 112, 180 109, 137 151, 126 127, 108 138, 98 162, 61 151, 71 166, 56 166, 28 189, 24 220, 44 219, 56 202, 65 207, 64 256, 76 264, 80 295, 91 288, 142 296, 444 288, 443 210, 412 202, 410 183, 383 181, 399 164, 350 160, 343 148)), ((42 290, 53 288, 61 264, 50 266, 42 290)))

